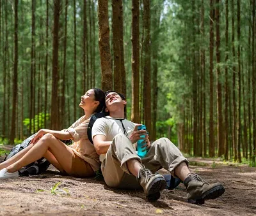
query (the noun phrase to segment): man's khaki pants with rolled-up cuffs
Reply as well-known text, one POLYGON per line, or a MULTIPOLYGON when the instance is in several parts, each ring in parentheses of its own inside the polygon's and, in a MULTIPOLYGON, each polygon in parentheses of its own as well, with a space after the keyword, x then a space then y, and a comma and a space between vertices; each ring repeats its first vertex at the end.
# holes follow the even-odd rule
POLYGON ((154 141, 148 149, 147 155, 141 159, 137 154, 132 143, 124 134, 117 134, 111 143, 106 154, 106 159, 102 161, 101 169, 104 180, 110 187, 122 189, 139 189, 140 184, 136 176, 131 175, 127 168, 127 161, 138 159, 153 173, 164 168, 172 175, 174 169, 181 163, 188 160, 182 155, 180 150, 173 145, 167 138, 154 141))

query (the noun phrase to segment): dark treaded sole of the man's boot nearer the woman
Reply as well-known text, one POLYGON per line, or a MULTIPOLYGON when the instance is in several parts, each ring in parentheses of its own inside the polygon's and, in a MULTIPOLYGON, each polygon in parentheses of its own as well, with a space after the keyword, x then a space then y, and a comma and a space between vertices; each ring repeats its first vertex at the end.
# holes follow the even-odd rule
POLYGON ((166 187, 166 181, 164 178, 156 178, 151 182, 148 187, 148 194, 146 198, 148 201, 156 201, 160 198, 160 192, 166 187))

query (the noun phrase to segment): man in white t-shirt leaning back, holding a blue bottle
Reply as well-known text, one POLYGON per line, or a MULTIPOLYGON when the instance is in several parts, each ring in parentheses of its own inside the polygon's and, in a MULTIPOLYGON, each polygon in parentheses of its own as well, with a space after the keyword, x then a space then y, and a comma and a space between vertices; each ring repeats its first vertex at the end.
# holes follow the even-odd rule
POLYGON ((208 184, 189 171, 188 160, 170 140, 161 138, 150 144, 147 131, 138 131, 140 124, 125 119, 127 101, 122 94, 106 92, 105 100, 109 116, 95 121, 92 137, 107 185, 123 189, 143 187, 148 201, 155 201, 166 187, 164 177, 155 172, 164 168, 182 180, 191 203, 203 204, 205 199, 215 199, 223 194, 222 184, 208 184), (145 147, 148 148, 142 159, 134 150, 141 135, 145 135, 145 147))

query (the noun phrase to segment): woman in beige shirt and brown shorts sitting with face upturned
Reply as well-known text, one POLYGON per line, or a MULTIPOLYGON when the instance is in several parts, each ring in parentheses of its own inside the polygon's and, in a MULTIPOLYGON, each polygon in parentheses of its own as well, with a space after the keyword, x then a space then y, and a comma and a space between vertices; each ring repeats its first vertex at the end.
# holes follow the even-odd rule
POLYGON ((100 89, 90 89, 81 97, 79 104, 84 110, 84 116, 78 119, 68 129, 52 131, 40 129, 31 140, 31 145, 7 161, 0 164, 0 178, 16 178, 18 170, 41 157, 45 157, 61 173, 70 176, 94 176, 100 169, 99 155, 87 137, 87 127, 93 113, 104 109, 104 92, 100 89), (60 140, 74 140, 71 146, 60 140))

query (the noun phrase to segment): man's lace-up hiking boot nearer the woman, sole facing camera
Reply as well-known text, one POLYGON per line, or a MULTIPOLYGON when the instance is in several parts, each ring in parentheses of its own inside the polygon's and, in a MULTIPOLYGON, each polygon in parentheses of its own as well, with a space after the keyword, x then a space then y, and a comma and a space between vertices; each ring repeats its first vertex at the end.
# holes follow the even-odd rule
POLYGON ((160 192, 166 187, 163 175, 153 174, 149 169, 141 168, 137 177, 138 182, 143 187, 148 201, 156 201, 160 198, 160 192))

